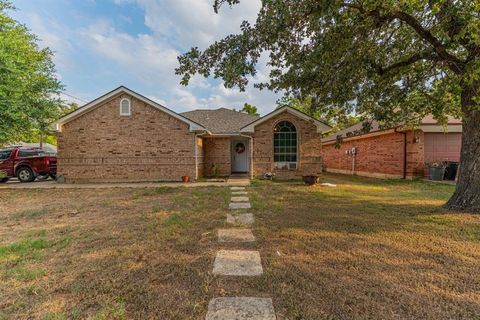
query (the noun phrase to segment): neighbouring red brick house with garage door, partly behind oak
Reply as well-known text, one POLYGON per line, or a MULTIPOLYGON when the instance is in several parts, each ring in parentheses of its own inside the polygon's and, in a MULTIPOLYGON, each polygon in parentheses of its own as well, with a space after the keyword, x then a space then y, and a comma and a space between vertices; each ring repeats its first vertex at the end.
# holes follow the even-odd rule
POLYGON ((427 175, 426 163, 460 161, 462 122, 458 119, 450 117, 446 131, 430 116, 416 130, 382 130, 376 122, 368 133, 360 133, 361 129, 360 123, 322 139, 325 171, 412 179, 427 175), (337 136, 343 139, 340 145, 337 136))

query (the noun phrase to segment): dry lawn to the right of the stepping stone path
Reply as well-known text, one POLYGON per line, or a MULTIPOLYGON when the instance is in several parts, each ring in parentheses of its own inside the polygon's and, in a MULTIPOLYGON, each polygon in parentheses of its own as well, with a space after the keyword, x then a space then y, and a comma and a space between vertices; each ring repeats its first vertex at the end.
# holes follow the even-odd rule
POLYGON ((280 319, 480 318, 480 216, 452 186, 326 175, 250 192, 280 319))

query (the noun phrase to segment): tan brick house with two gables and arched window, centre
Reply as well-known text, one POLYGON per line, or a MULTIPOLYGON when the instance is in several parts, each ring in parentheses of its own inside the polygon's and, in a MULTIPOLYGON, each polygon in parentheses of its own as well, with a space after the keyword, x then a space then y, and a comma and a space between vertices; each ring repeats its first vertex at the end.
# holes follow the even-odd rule
POLYGON ((66 182, 320 174, 321 135, 330 130, 289 107, 264 117, 225 108, 176 113, 123 86, 55 126, 66 182))

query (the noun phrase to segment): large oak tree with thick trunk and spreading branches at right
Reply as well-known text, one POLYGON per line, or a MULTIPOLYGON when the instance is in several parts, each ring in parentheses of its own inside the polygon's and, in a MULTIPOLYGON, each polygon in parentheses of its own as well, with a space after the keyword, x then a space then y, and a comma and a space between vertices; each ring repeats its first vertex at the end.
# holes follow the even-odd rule
MULTIPOLYGON (((240 1, 216 0, 214 10, 240 1)), ((461 171, 446 206, 480 210, 479 0, 262 0, 254 24, 192 48, 177 73, 185 85, 213 74, 243 90, 262 53, 272 70, 260 88, 345 114, 355 106, 385 126, 461 117, 461 171)))

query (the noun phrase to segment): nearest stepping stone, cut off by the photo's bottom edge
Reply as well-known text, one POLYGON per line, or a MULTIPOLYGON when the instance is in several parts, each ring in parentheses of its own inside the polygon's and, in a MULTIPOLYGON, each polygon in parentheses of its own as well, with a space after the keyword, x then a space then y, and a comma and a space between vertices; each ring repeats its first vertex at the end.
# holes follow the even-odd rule
POLYGON ((205 320, 276 320, 270 298, 215 298, 210 300, 205 320))

